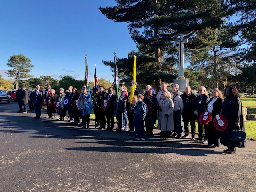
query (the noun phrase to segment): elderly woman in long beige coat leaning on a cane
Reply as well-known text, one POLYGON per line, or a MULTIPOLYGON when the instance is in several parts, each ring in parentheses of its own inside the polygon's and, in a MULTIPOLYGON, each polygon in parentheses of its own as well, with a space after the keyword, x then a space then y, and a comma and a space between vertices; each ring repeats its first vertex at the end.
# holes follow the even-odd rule
POLYGON ((173 110, 174 104, 171 95, 168 92, 164 92, 162 95, 163 102, 160 106, 161 110, 158 111, 158 129, 161 130, 161 137, 169 138, 172 130, 174 130, 173 124, 173 110))

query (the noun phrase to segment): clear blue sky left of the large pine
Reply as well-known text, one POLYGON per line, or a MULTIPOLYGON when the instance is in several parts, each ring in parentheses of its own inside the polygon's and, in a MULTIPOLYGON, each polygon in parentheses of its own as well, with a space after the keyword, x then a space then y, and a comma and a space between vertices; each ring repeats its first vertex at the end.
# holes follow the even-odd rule
POLYGON ((98 78, 112 82, 110 67, 102 60, 127 57, 136 44, 126 23, 114 23, 101 14, 100 6, 114 6, 114 0, 1 0, 0 2, 0 74, 8 69, 12 55, 23 54, 34 65, 35 77, 49 75, 60 79, 70 75, 84 79, 87 53, 89 80, 94 65, 98 78))

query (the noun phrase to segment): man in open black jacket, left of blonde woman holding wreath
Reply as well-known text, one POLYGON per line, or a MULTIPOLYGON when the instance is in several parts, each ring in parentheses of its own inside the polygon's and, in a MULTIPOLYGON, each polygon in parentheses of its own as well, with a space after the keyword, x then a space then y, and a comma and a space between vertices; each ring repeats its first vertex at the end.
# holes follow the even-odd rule
POLYGON ((200 115, 207 109, 207 102, 210 100, 208 93, 205 87, 200 87, 198 89, 199 95, 196 98, 194 103, 194 114, 196 116, 196 120, 198 122, 198 139, 195 141, 205 142, 204 141, 204 125, 199 123, 200 115))

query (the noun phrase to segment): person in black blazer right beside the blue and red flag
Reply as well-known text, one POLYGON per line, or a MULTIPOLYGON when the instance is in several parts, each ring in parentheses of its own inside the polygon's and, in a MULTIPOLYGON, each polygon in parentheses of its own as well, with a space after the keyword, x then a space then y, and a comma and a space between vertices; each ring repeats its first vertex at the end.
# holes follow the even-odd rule
POLYGON ((100 127, 98 129, 105 129, 106 126, 106 113, 104 109, 100 108, 102 102, 107 98, 107 93, 104 90, 104 86, 100 85, 99 86, 100 92, 98 92, 97 96, 97 112, 98 112, 98 117, 99 117, 99 122, 100 122, 100 127))

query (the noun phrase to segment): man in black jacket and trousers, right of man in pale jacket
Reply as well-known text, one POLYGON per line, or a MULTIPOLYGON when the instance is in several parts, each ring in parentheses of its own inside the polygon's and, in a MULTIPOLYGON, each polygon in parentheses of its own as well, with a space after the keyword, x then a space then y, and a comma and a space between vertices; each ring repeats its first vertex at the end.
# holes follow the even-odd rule
POLYGON ((191 88, 187 86, 185 88, 185 93, 181 96, 183 101, 183 111, 182 111, 182 118, 184 122, 184 130, 185 135, 182 138, 188 138, 189 130, 188 130, 188 122, 190 122, 191 126, 191 136, 192 140, 195 140, 195 133, 196 133, 196 124, 195 124, 195 115, 193 113, 194 102, 196 100, 196 96, 192 94, 191 88))

